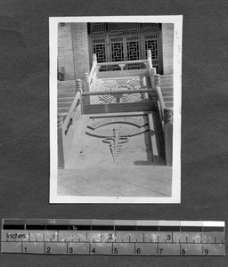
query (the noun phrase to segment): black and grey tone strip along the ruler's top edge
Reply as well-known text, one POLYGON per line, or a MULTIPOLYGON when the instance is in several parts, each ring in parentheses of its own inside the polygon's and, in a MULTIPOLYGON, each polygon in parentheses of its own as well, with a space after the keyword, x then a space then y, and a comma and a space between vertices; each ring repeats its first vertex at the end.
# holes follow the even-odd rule
MULTIPOLYGON (((182 225, 181 221, 176 221, 176 225, 168 225, 166 223, 159 223, 159 221, 151 221, 146 225, 141 221, 129 221, 135 222, 127 225, 127 222, 119 224, 115 221, 111 223, 103 223, 102 220, 20 220, 20 219, 4 219, 2 223, 3 230, 34 230, 34 231, 195 231, 195 232, 209 232, 209 231, 224 231, 224 226, 216 225, 203 225, 202 222, 194 223, 194 225, 182 225), (80 223, 79 221, 83 221, 80 223), (155 223, 156 222, 156 223, 155 223)), ((143 222, 143 221, 142 221, 143 222)), ((147 221, 148 222, 148 221, 147 221)), ((164 221, 162 221, 164 222, 164 221)), ((175 222, 175 221, 170 221, 175 222)), ((196 221, 197 222, 197 221, 196 221)), ((174 224, 174 223, 171 223, 174 224)))

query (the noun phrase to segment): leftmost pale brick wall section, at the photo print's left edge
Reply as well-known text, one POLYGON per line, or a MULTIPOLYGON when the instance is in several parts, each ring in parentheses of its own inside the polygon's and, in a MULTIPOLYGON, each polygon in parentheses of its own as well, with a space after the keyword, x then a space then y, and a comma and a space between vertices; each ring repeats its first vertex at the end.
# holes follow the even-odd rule
POLYGON ((75 79, 75 66, 72 49, 71 23, 58 26, 58 64, 64 67, 65 80, 75 79))

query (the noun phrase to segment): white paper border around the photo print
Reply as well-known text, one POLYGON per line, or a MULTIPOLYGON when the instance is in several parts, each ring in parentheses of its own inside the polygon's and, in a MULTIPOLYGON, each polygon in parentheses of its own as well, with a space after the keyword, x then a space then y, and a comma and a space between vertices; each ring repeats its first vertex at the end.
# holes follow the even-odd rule
POLYGON ((183 15, 167 16, 97 16, 97 17, 50 17, 49 18, 49 64, 50 64, 50 203, 100 203, 100 204, 151 204, 181 203, 181 110, 182 110, 182 36, 183 15), (57 55, 59 22, 139 22, 174 24, 174 128, 172 197, 96 197, 58 196, 57 155, 57 55))

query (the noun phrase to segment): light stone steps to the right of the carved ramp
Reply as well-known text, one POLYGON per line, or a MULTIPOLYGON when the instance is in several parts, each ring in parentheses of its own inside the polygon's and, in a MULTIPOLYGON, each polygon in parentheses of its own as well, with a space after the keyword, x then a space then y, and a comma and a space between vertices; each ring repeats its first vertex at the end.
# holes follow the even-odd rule
POLYGON ((160 89, 166 108, 174 107, 174 82, 173 75, 160 76, 160 89))

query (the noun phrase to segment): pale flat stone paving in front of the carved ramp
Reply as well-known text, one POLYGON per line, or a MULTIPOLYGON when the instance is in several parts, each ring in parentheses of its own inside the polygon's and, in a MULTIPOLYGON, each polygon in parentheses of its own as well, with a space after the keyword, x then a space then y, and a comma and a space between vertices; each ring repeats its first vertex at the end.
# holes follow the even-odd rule
POLYGON ((86 166, 59 169, 58 195, 171 197, 170 166, 86 166))

